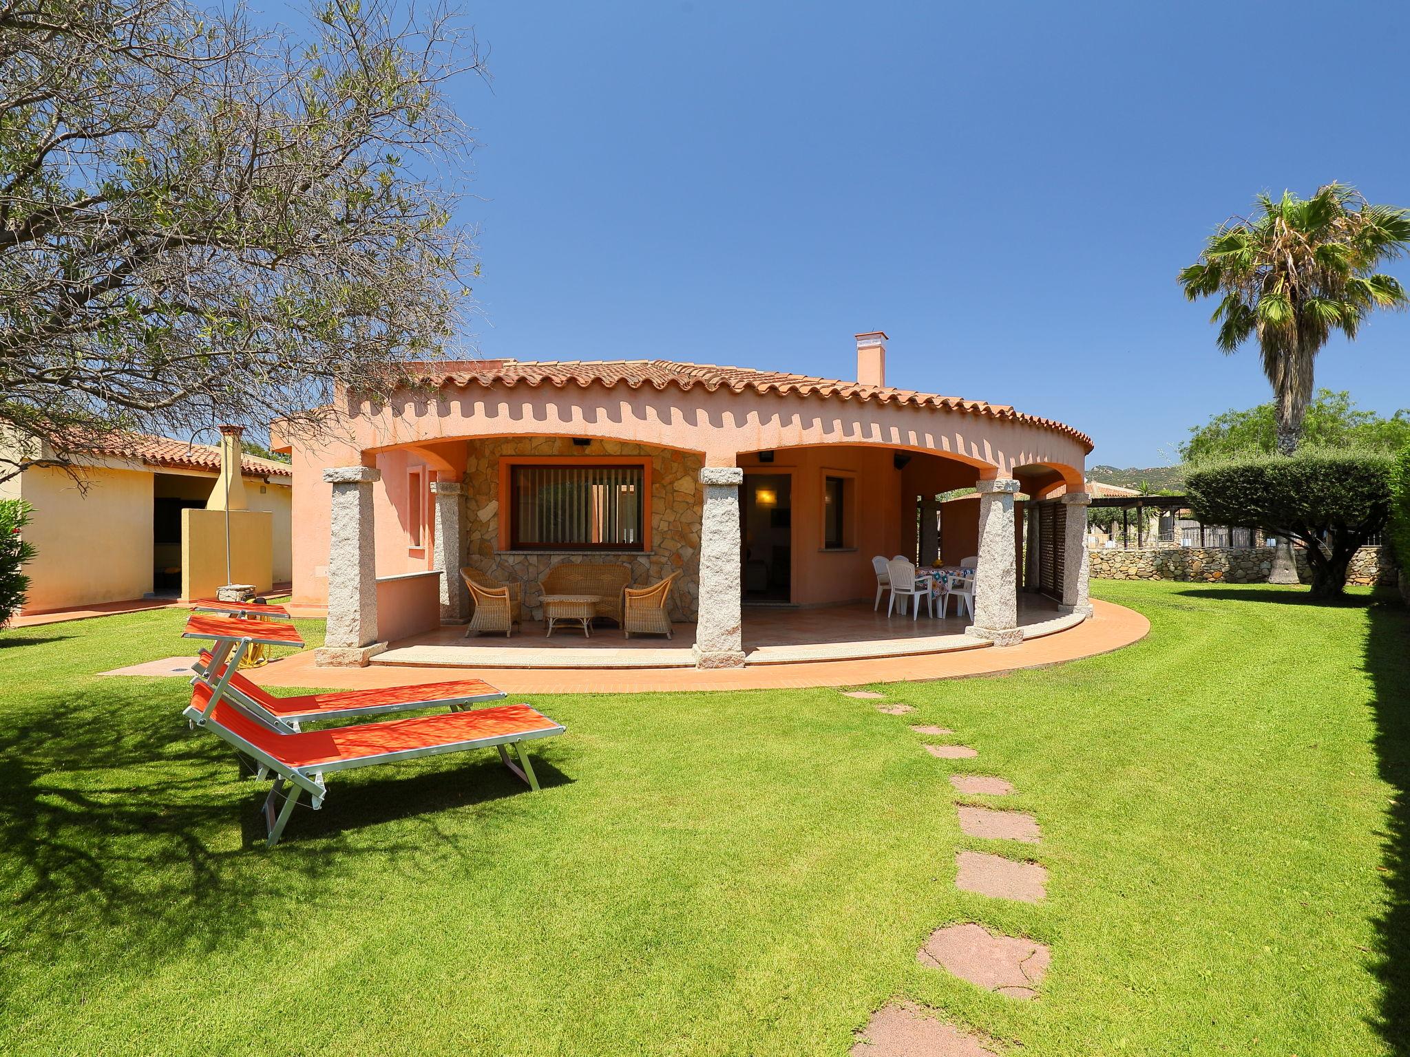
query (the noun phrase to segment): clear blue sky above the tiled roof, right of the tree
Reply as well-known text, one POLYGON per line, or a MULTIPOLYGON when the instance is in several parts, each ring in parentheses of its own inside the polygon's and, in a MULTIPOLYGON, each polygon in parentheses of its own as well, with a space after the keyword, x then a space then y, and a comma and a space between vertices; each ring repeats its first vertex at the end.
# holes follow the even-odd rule
MULTIPOLYGON (((1173 459, 1268 399, 1175 275, 1261 189, 1410 206, 1404 4, 526 3, 465 8, 492 85, 462 218, 488 357, 852 378, 1173 459)), ((1410 282, 1410 264, 1393 268, 1410 282)), ((1410 316, 1318 383, 1410 404, 1410 316)))

